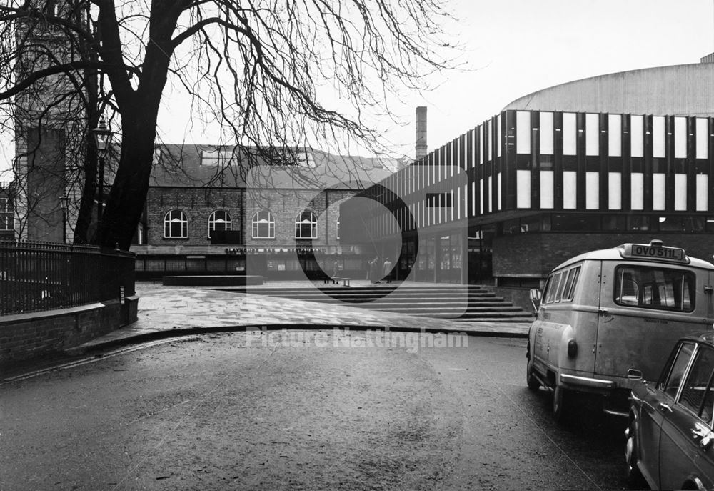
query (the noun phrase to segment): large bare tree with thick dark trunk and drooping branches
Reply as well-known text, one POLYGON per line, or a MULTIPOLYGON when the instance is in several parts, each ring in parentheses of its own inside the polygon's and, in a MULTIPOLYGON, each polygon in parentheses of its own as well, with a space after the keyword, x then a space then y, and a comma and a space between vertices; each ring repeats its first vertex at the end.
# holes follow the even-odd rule
POLYGON ((128 249, 167 84, 192 96, 197 123, 221 124, 226 139, 253 149, 243 153, 289 161, 296 149, 343 139, 377 149, 366 109, 388 115, 397 84, 423 89, 427 76, 453 66, 441 36, 447 17, 442 0, 8 1, 0 6, 0 101, 58 76, 86 92, 99 77, 97 100, 116 111, 121 154, 95 240, 128 249), (61 53, 59 44, 36 46, 39 29, 62 39, 61 53), (327 89, 351 109, 327 104, 327 89))

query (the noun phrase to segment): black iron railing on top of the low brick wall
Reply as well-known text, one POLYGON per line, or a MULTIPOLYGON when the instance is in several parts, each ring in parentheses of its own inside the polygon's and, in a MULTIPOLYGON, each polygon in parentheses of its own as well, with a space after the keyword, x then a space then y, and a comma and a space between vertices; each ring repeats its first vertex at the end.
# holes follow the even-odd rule
POLYGON ((134 295, 131 252, 0 242, 0 315, 77 307, 134 295))

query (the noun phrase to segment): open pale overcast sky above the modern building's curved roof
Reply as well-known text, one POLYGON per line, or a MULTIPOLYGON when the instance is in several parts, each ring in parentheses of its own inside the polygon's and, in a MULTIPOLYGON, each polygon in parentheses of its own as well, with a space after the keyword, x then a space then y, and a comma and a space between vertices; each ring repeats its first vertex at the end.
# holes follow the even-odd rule
MULTIPOLYGON (((427 94, 394 96, 391 109, 399 124, 381 121, 394 155, 413 157, 416 106, 428 108, 431 150, 533 91, 618 71, 698 63, 714 51, 714 0, 447 0, 447 5, 456 21, 445 29, 461 44, 461 61, 470 68, 442 74, 427 94)), ((187 132, 186 107, 176 95, 165 97, 159 119, 163 141, 216 142, 214 129, 193 125, 187 132)))

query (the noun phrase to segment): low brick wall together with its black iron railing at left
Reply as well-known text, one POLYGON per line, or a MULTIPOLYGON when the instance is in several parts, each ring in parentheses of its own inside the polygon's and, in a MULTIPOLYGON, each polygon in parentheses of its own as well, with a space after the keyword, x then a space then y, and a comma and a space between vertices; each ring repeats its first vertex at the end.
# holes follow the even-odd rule
POLYGON ((99 247, 0 242, 0 365, 134 322, 135 260, 99 247))

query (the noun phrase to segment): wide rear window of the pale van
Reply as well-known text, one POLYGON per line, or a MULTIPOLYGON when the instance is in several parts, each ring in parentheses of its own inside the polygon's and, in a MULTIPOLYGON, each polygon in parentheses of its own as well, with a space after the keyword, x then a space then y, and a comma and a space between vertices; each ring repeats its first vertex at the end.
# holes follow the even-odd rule
POLYGON ((692 312, 695 275, 681 269, 656 266, 620 266, 615 269, 615 304, 645 309, 692 312))

